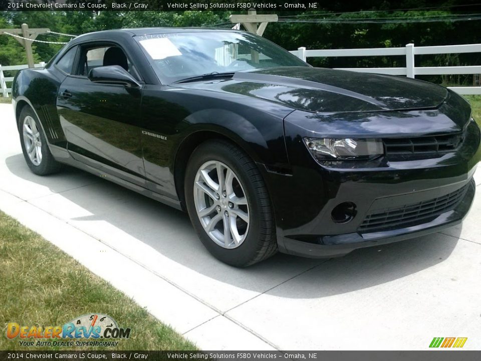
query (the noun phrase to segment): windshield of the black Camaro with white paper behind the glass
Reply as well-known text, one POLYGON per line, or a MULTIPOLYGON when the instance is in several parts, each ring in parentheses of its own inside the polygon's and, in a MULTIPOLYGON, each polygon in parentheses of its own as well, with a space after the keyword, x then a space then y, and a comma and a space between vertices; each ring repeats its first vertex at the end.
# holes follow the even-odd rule
POLYGON ((274 43, 249 33, 192 32, 135 37, 162 82, 211 73, 309 66, 274 43))

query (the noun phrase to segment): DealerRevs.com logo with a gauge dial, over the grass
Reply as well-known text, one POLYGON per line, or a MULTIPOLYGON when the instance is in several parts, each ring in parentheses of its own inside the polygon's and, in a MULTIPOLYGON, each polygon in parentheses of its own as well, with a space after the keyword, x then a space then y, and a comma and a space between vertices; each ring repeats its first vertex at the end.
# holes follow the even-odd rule
POLYGON ((7 325, 7 337, 18 339, 21 346, 117 346, 130 337, 130 328, 120 328, 115 320, 94 313, 76 317, 63 325, 23 326, 17 322, 7 325), (101 339, 101 340, 100 340, 101 339))

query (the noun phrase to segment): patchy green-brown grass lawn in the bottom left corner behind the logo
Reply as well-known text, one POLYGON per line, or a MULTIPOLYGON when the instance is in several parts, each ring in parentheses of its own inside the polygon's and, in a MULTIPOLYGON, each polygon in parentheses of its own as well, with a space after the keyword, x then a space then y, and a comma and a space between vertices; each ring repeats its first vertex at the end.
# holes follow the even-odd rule
POLYGON ((55 326, 89 313, 111 316, 119 327, 130 327, 131 335, 120 340, 116 347, 81 349, 195 350, 193 344, 129 297, 3 212, 0 212, 0 294, 3 327, 0 350, 76 349, 22 347, 20 337, 13 340, 6 337, 7 323, 55 326))

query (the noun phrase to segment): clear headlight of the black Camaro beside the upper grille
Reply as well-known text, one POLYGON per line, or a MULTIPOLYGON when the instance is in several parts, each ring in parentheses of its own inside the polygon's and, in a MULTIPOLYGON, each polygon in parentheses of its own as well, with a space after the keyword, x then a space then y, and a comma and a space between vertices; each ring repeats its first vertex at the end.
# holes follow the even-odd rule
POLYGON ((384 154, 381 139, 304 138, 304 142, 319 160, 369 160, 384 154))

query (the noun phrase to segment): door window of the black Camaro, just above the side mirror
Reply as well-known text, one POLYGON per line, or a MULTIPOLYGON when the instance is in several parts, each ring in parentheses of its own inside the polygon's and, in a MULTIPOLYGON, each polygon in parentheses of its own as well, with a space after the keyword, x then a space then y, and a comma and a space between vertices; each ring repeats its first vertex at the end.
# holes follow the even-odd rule
POLYGON ((80 57, 80 75, 87 76, 97 67, 118 65, 137 78, 133 65, 122 49, 116 46, 84 48, 80 57))

